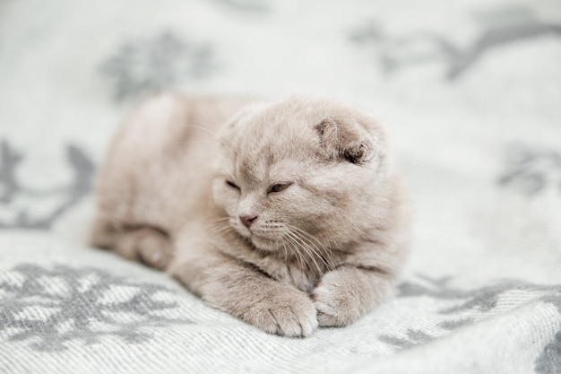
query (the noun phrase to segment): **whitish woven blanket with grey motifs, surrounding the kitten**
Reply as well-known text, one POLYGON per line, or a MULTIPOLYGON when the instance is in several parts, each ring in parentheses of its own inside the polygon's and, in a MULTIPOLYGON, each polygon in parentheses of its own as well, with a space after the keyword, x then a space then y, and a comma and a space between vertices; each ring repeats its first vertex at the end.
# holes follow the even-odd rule
POLYGON ((0 372, 561 373, 561 6, 0 0, 0 372), (162 88, 388 126, 408 265, 358 323, 265 334, 97 249, 95 172, 162 88))

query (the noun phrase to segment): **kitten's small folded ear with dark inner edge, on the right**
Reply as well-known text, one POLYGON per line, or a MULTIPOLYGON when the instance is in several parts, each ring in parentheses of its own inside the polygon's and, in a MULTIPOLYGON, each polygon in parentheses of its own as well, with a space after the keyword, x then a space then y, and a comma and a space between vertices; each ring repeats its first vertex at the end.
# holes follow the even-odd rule
POLYGON ((361 165, 372 160, 377 142, 366 128, 354 119, 328 117, 315 125, 324 154, 333 160, 361 165))

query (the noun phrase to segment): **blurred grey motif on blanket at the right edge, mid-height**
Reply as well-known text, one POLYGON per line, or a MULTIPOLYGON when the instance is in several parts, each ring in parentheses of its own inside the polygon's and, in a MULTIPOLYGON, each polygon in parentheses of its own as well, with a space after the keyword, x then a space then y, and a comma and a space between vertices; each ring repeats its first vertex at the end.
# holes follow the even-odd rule
POLYGON ((535 196, 548 187, 561 194, 561 152, 538 146, 512 145, 506 151, 506 170, 498 184, 535 196))

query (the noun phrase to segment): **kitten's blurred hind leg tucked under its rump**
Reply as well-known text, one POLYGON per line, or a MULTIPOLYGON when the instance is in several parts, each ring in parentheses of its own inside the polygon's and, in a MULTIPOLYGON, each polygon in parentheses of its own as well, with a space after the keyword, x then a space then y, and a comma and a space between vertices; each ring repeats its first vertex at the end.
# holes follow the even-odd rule
POLYGON ((125 258, 157 269, 165 269, 171 261, 173 248, 168 233, 150 225, 128 225, 116 228, 98 220, 91 232, 91 245, 111 249, 125 258))

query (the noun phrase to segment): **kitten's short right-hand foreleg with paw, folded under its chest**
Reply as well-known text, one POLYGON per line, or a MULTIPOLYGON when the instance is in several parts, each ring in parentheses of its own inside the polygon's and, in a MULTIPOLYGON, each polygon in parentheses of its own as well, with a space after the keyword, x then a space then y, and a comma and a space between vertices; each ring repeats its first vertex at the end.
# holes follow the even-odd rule
POLYGON ((393 276, 372 267, 343 265, 324 275, 313 292, 319 326, 347 326, 384 299, 393 276))

